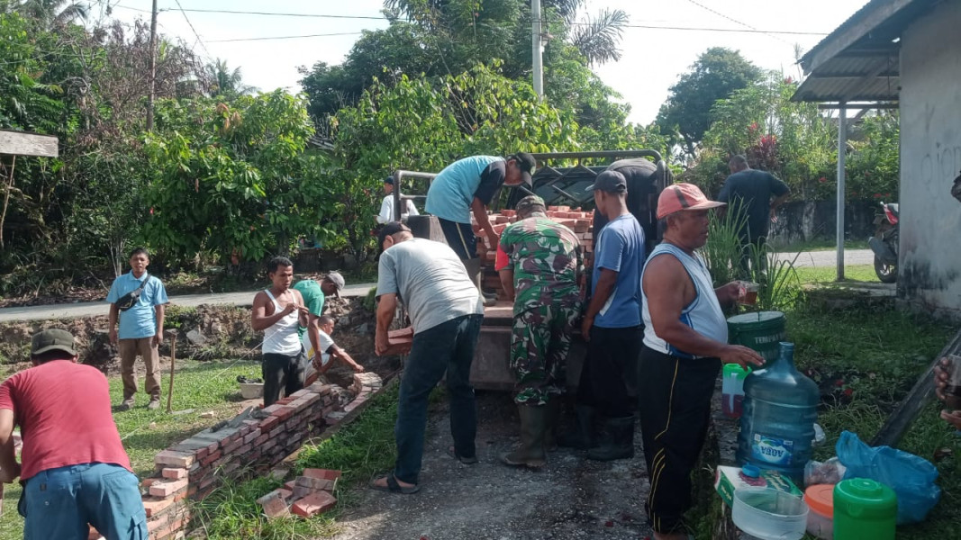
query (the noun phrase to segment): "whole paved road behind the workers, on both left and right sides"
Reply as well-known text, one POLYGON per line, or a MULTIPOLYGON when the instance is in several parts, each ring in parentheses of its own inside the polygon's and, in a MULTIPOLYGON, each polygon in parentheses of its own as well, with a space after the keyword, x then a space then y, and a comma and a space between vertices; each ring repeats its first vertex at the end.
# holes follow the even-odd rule
MULTIPOLYGON (((833 251, 815 251, 779 254, 779 258, 795 261, 796 266, 834 266, 836 256, 833 251)), ((871 250, 845 251, 845 264, 873 264, 871 250)), ((363 296, 376 283, 357 283, 344 287, 344 296, 363 296)), ((256 291, 226 292, 220 294, 186 294, 171 296, 170 303, 176 306, 191 307, 201 304, 230 306, 250 306, 256 291)), ((77 304, 58 304, 54 306, 6 307, 0 309, 0 322, 29 321, 37 319, 70 319, 91 315, 106 315, 107 305, 102 302, 83 302, 77 304)))

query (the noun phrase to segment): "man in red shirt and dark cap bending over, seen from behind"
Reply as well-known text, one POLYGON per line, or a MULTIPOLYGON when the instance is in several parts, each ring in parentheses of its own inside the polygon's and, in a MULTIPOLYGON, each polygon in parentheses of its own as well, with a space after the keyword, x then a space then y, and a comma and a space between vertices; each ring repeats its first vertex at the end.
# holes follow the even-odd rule
POLYGON ((108 540, 146 540, 147 516, 113 424, 107 378, 77 357, 70 332, 41 331, 31 344, 34 367, 0 384, 0 481, 20 477, 25 540, 86 539, 87 524, 108 540))

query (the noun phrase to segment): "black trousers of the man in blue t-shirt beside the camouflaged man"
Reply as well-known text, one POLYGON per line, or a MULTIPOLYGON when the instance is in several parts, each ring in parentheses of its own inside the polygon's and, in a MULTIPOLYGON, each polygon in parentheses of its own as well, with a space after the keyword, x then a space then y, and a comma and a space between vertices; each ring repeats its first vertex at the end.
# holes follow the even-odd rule
POLYGON ((579 383, 579 403, 593 405, 607 418, 633 415, 634 400, 628 393, 628 387, 633 384, 628 382, 628 376, 637 373, 642 340, 639 326, 591 327, 579 383))

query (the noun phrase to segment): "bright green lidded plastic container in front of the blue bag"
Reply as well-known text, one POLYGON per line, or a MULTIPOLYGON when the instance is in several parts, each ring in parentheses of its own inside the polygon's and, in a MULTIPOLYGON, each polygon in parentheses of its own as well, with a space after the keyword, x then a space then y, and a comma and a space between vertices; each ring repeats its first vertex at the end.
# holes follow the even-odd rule
POLYGON ((898 496, 871 479, 834 486, 834 540, 894 540, 898 496))

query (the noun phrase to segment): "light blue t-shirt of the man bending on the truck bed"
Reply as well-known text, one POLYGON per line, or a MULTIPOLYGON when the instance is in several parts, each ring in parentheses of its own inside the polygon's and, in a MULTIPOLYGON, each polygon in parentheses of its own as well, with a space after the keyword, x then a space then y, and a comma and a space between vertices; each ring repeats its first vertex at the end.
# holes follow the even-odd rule
POLYGON ((489 205, 504 185, 504 164, 504 158, 474 156, 447 165, 431 182, 425 209, 441 219, 470 225, 474 197, 489 205))

